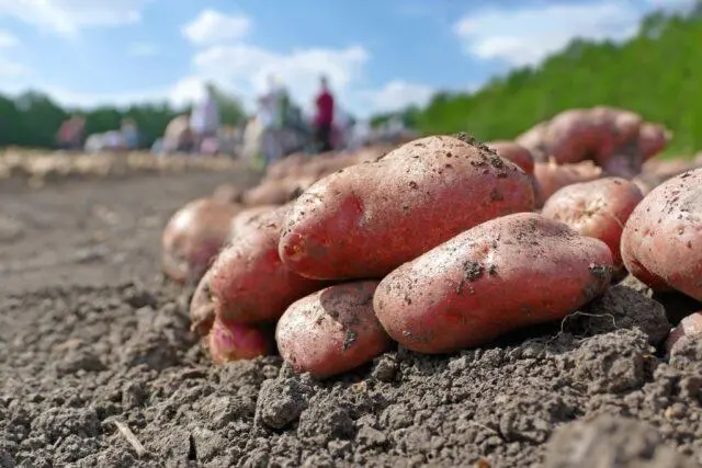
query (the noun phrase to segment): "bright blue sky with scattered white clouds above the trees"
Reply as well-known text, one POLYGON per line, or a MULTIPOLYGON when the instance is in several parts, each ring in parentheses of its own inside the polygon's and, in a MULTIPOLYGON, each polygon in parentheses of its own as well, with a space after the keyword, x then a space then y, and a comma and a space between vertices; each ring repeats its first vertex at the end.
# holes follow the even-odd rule
POLYGON ((65 104, 196 99, 248 106, 270 73, 309 103, 325 72, 356 115, 474 90, 574 36, 624 39, 691 0, 0 0, 0 92, 65 104))

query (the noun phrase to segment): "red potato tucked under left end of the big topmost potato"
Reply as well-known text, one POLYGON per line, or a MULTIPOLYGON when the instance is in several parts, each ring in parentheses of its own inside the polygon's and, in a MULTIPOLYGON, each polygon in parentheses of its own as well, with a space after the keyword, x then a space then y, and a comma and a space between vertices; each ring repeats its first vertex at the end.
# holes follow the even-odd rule
POLYGON ((272 322, 295 300, 326 286, 297 275, 281 262, 278 243, 287 209, 281 206, 252 218, 217 255, 211 290, 220 319, 272 322))

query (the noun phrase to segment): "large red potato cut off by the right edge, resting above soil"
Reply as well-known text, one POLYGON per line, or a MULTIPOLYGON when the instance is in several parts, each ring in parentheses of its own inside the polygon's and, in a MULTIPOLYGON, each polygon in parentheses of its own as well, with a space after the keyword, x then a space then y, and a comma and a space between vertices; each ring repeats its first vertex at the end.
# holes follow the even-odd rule
POLYGON ((622 233, 627 270, 654 289, 702 300, 702 169, 677 175, 636 206, 622 233))

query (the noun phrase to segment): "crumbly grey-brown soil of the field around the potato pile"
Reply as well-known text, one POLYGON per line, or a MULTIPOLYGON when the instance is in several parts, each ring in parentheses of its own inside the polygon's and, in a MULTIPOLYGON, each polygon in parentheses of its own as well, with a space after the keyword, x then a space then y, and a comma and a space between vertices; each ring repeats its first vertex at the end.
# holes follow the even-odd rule
POLYGON ((185 202, 245 174, 0 185, 0 467, 694 467, 702 342, 627 278, 561 323, 339 378, 212 365, 159 272, 185 202))

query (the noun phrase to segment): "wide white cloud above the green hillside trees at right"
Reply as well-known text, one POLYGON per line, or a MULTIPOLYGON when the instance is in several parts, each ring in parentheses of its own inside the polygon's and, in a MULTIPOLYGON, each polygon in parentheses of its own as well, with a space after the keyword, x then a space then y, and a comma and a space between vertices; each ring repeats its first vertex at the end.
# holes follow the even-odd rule
POLYGON ((524 66, 540 62, 575 37, 596 41, 631 37, 636 33, 641 15, 629 2, 607 0, 483 10, 460 20, 454 32, 471 55, 524 66))

